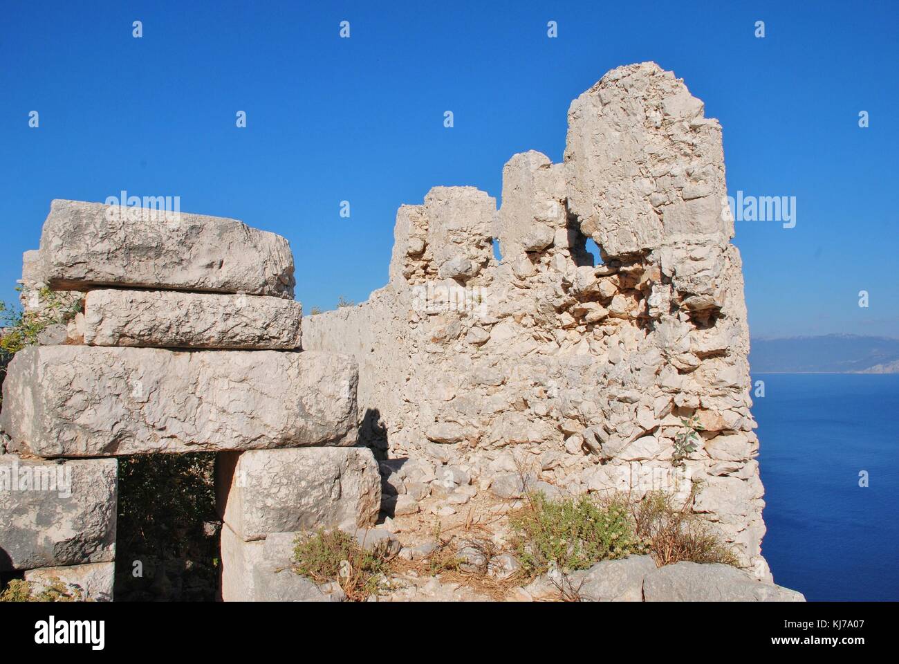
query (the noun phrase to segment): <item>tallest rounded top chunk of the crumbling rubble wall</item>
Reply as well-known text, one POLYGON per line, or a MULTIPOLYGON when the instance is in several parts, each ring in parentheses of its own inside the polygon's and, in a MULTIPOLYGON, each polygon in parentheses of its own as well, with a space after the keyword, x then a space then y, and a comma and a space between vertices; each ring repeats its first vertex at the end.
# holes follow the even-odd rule
POLYGON ((721 126, 654 62, 618 67, 568 111, 569 204, 610 255, 734 234, 721 126))

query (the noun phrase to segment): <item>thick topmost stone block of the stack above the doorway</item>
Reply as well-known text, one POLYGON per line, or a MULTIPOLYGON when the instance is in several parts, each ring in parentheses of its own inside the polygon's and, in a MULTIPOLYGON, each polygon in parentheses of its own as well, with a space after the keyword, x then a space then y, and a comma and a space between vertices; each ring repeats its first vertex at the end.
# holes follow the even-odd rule
POLYGON ((293 298, 285 238, 222 217, 53 201, 40 237, 54 290, 139 286, 293 298))

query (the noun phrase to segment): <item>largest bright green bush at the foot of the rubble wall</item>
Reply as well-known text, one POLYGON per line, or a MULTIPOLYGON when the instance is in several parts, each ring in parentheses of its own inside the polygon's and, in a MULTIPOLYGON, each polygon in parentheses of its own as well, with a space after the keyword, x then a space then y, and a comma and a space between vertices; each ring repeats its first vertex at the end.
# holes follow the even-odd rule
POLYGON ((598 500, 583 495, 550 501, 542 493, 530 494, 528 505, 512 512, 509 523, 516 556, 530 576, 552 565, 559 570, 585 570, 638 549, 628 504, 622 498, 598 500))

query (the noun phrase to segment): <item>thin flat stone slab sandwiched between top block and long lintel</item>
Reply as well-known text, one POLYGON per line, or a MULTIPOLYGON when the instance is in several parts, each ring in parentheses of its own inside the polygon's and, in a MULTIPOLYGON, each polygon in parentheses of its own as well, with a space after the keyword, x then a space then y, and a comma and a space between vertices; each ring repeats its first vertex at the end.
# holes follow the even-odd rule
POLYGON ((257 295, 97 290, 85 300, 85 344, 293 350, 298 301, 257 295))

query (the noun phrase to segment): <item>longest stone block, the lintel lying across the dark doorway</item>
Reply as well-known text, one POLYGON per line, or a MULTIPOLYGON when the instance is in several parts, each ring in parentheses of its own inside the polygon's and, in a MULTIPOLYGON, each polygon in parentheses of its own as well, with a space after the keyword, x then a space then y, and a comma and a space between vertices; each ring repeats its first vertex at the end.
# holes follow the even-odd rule
POLYGON ((43 457, 349 445, 357 379, 338 354, 32 346, 0 430, 43 457))

